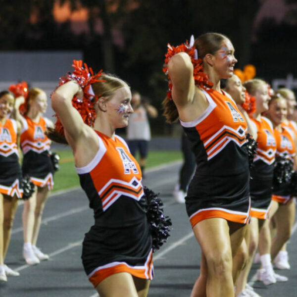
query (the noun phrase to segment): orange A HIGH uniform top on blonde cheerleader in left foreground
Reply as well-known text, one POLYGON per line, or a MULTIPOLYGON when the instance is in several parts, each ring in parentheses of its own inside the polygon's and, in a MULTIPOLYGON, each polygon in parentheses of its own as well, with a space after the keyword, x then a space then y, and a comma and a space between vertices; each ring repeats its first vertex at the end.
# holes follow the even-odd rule
POLYGON ((76 168, 96 225, 127 226, 143 221, 144 191, 140 167, 125 141, 96 131, 99 151, 86 166, 76 168))

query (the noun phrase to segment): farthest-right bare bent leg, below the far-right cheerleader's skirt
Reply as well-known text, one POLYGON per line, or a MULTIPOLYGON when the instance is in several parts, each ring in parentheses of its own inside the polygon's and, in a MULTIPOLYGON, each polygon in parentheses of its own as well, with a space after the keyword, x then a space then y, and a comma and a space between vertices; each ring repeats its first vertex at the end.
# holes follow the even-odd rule
POLYGON ((272 261, 291 236, 291 230, 293 227, 292 217, 295 216, 295 203, 293 199, 291 199, 287 204, 280 205, 274 216, 277 233, 271 244, 272 261))

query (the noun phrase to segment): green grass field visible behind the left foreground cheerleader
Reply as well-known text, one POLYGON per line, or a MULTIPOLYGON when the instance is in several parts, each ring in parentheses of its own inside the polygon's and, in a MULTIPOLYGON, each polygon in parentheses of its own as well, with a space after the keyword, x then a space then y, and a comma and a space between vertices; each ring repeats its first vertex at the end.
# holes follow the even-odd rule
MULTIPOLYGON (((60 169, 54 175, 54 191, 79 186, 79 178, 74 168, 71 150, 56 151, 60 155, 60 169)), ((148 153, 147 168, 179 160, 181 151, 150 151, 148 153)))

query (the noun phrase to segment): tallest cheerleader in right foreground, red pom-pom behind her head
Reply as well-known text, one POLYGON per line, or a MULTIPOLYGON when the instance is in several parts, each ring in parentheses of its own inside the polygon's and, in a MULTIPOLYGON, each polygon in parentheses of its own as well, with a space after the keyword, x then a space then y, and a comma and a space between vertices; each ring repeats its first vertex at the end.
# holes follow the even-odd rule
POLYGON ((168 46, 164 71, 170 83, 163 101, 167 121, 180 119, 197 161, 186 197, 202 251, 191 296, 233 297, 232 257, 242 244, 250 210, 247 123, 221 90, 220 79, 232 77, 237 60, 231 41, 221 34, 203 34, 191 46, 168 46))

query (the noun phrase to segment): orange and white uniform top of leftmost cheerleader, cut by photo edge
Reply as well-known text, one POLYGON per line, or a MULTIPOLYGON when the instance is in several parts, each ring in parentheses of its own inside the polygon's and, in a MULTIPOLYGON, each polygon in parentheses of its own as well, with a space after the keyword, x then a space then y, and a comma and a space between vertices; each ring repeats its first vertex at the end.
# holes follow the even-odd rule
POLYGON ((18 160, 19 153, 17 149, 17 127, 13 119, 6 119, 4 125, 0 123, 0 156, 11 156, 18 160), (15 156, 12 156, 15 154, 15 156))

